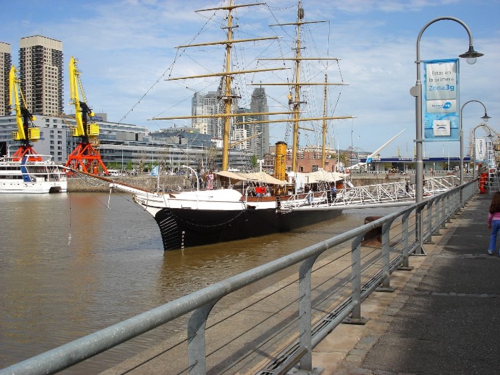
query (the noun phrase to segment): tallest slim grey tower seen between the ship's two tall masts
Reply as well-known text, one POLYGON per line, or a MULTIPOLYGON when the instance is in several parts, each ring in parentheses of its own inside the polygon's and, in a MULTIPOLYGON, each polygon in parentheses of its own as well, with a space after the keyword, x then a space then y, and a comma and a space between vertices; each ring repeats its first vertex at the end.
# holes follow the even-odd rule
MULTIPOLYGON (((266 90, 262 87, 258 87, 253 90, 250 109, 252 113, 267 113, 269 112, 269 106, 267 106, 266 90)), ((269 115, 256 115, 253 116, 255 121, 266 121, 269 120, 269 115)), ((269 124, 250 124, 247 129, 247 135, 251 137, 252 135, 257 135, 251 138, 251 150, 259 158, 263 159, 264 155, 269 153, 269 124)))

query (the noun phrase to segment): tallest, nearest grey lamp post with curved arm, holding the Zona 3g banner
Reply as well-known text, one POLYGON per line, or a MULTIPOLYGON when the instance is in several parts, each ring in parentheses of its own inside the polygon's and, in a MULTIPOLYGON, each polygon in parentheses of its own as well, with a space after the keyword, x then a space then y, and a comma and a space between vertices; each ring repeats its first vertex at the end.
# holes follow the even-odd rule
MULTIPOLYGON (((468 51, 465 54, 459 55, 459 57, 466 58, 468 64, 474 64, 476 62, 476 59, 480 56, 483 56, 483 54, 480 54, 479 52, 475 52, 474 47, 473 47, 473 35, 470 32, 468 26, 463 22, 460 21, 459 19, 455 17, 449 17, 449 16, 444 16, 444 17, 438 17, 437 19, 433 19, 432 21, 429 21, 424 27, 422 27, 422 30, 420 30, 420 33, 418 34, 417 38, 417 45, 416 45, 416 66, 417 66, 417 81, 414 87, 410 89, 410 94, 415 97, 415 125, 416 125, 416 166, 415 166, 415 198, 416 202, 420 203, 424 200, 424 160, 422 157, 422 82, 420 80, 420 39, 422 38, 422 34, 424 34, 424 31, 432 25, 433 23, 437 21, 442 21, 442 20, 449 20, 449 21, 455 21, 462 25, 464 29, 466 30, 469 38, 469 48, 468 51)), ((417 225, 417 236, 418 240, 420 242, 420 251, 422 251, 422 212, 420 211, 418 214, 418 225, 417 225)))

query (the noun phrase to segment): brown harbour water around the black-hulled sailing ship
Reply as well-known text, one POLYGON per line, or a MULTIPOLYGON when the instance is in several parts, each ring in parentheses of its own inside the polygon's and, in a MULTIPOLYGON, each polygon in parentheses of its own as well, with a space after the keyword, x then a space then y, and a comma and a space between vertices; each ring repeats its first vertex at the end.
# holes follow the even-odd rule
MULTIPOLYGON (((109 198, 0 195, 0 368, 391 212, 346 210, 288 234, 164 252, 150 214, 129 195, 111 195, 108 208, 109 198)), ((98 373, 169 332, 160 329, 65 373, 98 373)))

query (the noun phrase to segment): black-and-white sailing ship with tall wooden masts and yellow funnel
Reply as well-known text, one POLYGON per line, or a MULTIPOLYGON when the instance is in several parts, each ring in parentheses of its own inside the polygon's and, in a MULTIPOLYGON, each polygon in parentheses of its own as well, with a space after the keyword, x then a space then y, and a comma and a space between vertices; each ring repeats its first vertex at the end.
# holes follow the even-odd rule
MULTIPOLYGON (((277 113, 245 113, 238 114, 233 111, 234 107, 234 89, 231 87, 231 82, 234 76, 240 74, 262 71, 278 71, 284 70, 284 67, 269 68, 269 69, 255 69, 245 71, 233 71, 231 68, 231 48, 239 43, 247 43, 251 41, 269 41, 276 40, 278 36, 271 36, 268 38, 252 38, 252 39, 235 39, 233 38, 234 28, 238 27, 233 24, 233 12, 240 7, 248 7, 260 4, 247 4, 247 5, 234 5, 233 0, 229 0, 227 5, 220 8, 212 8, 208 11, 223 10, 225 12, 225 20, 227 26, 223 27, 226 34, 226 40, 216 43, 206 43, 204 45, 223 45, 225 46, 225 71, 220 73, 208 73, 201 76, 170 78, 187 79, 187 78, 203 78, 203 77, 220 77, 220 100, 225 109, 224 113, 216 115, 196 115, 188 117, 163 117, 155 120, 172 120, 174 118, 201 118, 201 117, 219 117, 223 119, 223 153, 222 153, 222 170, 219 178, 226 177, 229 179, 231 185, 231 176, 227 177, 229 172, 229 136, 231 121, 235 117, 258 118, 257 121, 252 120, 252 124, 263 124, 269 122, 288 122, 293 127, 293 166, 292 170, 297 169, 297 147, 298 147, 298 130, 299 122, 313 121, 313 120, 338 120, 339 118, 352 118, 351 116, 345 117, 327 117, 323 115, 321 119, 302 119, 300 117, 301 105, 304 104, 304 99, 301 97, 300 89, 306 85, 321 84, 326 87, 328 83, 323 82, 301 82, 299 65, 302 60, 310 60, 310 58, 301 57, 301 27, 304 27, 308 21, 304 21, 304 10, 302 4, 298 2, 297 21, 291 24, 297 28, 297 40, 295 41, 295 52, 293 58, 285 58, 277 60, 291 60, 295 65, 293 71, 295 77, 293 83, 286 86, 290 89, 288 95, 288 111, 277 113), (293 95, 291 94, 293 92, 293 95), (262 120, 261 115, 288 115, 289 118, 284 120, 262 120), (226 176, 224 174, 226 173, 226 176)), ((202 12, 198 10, 197 12, 202 12)), ((282 26, 284 26, 282 25, 282 26)), ((178 48, 198 47, 199 44, 182 45, 178 48)), ((316 57, 316 60, 323 58, 316 57)), ((326 60, 336 60, 336 58, 326 58, 326 60)), ((260 83, 262 84, 262 82, 260 83)), ((245 124, 245 120, 239 121, 238 124, 245 124)), ((326 126, 326 125, 324 125, 326 126)), ((225 242, 230 240, 238 240, 242 238, 249 238, 254 236, 262 236, 265 234, 272 234, 280 231, 289 231, 304 225, 318 223, 329 218, 334 218, 341 214, 343 207, 341 205, 333 205, 332 198, 328 199, 326 194, 319 193, 322 196, 321 200, 315 197, 315 194, 310 190, 309 184, 307 189, 310 190, 306 194, 297 194, 302 190, 306 190, 306 185, 298 179, 291 178, 290 181, 286 180, 286 144, 278 142, 276 144, 277 152, 275 157, 275 172, 274 176, 263 176, 263 180, 273 179, 273 181, 260 181, 249 179, 258 186, 260 190, 256 196, 251 196, 249 190, 243 188, 238 192, 231 189, 220 190, 205 190, 196 192, 180 192, 180 193, 167 193, 157 192, 150 194, 141 190, 133 191, 135 193, 134 200, 137 204, 144 207, 157 221, 161 236, 163 239, 163 247, 165 250, 179 249, 183 247, 191 247, 195 245, 205 245, 214 242, 225 242), (262 186, 267 186, 267 194, 262 194, 262 186), (271 187, 271 188, 270 188, 271 187), (293 202, 292 205, 286 203, 293 202), (297 204, 299 202, 299 204, 297 204)), ((324 159, 324 158, 323 158, 324 159)), ((210 177, 213 179, 213 175, 210 177)), ((242 181, 245 182, 245 177, 242 181)), ((248 186, 248 182, 247 186, 248 186)), ((331 189, 331 183, 326 185, 328 190, 331 189)), ((127 190, 127 187, 119 183, 112 183, 111 187, 127 190)), ((340 188, 341 186, 339 186, 340 188)))

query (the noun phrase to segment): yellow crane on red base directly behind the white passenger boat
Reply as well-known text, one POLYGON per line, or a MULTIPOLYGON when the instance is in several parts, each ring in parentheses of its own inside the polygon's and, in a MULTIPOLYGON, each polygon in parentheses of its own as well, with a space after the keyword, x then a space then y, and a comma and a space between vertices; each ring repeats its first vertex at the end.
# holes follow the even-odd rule
POLYGON ((21 146, 14 152, 14 160, 21 160, 28 156, 30 160, 41 160, 33 150, 32 142, 40 139, 40 129, 34 126, 34 115, 27 109, 23 91, 19 84, 21 80, 17 77, 17 69, 12 65, 9 73, 9 105, 16 111, 17 131, 12 132, 12 139, 20 141, 21 146), (19 100, 21 98, 21 100, 19 100))

